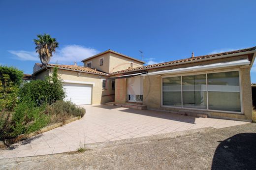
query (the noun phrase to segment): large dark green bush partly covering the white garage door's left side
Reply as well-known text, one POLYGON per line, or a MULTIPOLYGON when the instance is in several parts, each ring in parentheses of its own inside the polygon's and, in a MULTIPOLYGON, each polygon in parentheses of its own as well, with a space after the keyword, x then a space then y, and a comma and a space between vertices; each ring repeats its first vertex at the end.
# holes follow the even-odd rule
POLYGON ((21 100, 31 98, 38 106, 48 103, 53 104, 55 101, 63 100, 65 92, 61 79, 58 78, 57 67, 53 75, 45 80, 35 80, 25 84, 20 90, 21 100))

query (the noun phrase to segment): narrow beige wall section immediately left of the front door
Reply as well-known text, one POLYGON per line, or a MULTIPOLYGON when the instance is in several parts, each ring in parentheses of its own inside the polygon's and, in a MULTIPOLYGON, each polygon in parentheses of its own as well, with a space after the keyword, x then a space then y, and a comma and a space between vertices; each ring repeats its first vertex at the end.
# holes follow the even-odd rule
POLYGON ((127 99, 127 81, 126 79, 116 79, 115 103, 125 104, 127 99))

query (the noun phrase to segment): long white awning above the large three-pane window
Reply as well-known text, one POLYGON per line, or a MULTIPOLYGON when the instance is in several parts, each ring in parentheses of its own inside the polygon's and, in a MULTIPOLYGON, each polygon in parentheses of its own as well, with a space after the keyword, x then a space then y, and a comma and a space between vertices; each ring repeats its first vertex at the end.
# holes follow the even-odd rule
POLYGON ((148 74, 143 74, 142 76, 151 76, 151 75, 161 75, 161 74, 169 74, 169 73, 182 73, 187 71, 201 71, 206 69, 212 68, 223 68, 223 67, 231 67, 231 66, 239 66, 239 65, 248 65, 251 62, 248 59, 241 59, 237 61, 230 61, 230 62, 220 62, 215 64, 208 64, 208 65, 197 65, 193 67, 186 67, 186 68, 177 68, 172 70, 163 70, 163 71, 155 71, 148 74))

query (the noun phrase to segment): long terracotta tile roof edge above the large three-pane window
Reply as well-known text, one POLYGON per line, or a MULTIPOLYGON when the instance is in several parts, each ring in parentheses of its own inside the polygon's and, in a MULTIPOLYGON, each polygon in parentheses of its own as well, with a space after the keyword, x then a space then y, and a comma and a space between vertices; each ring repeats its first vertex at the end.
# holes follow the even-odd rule
POLYGON ((121 74, 121 73, 129 73, 129 72, 135 72, 135 71, 141 71, 141 70, 149 70, 149 69, 154 69, 154 68, 162 68, 162 67, 168 67, 172 65, 180 65, 180 64, 185 64, 188 61, 201 61, 206 58, 212 58, 215 59, 217 57, 221 56, 227 56, 227 55, 232 55, 236 53, 242 53, 242 52, 249 52, 256 50, 256 47, 251 47, 251 48, 246 48, 246 49, 241 49, 241 50, 235 50, 235 51, 229 51, 229 52, 224 52, 224 53, 217 53, 217 54, 211 54, 211 55, 205 55, 205 56, 197 56, 197 57, 190 57, 190 58, 185 58, 185 59, 179 59, 179 60, 174 60, 174 61, 168 61, 168 62, 162 62, 158 64, 152 64, 152 65, 146 65, 142 67, 136 67, 132 69, 127 69, 127 70, 121 70, 117 72, 110 73, 111 75, 114 74, 121 74))

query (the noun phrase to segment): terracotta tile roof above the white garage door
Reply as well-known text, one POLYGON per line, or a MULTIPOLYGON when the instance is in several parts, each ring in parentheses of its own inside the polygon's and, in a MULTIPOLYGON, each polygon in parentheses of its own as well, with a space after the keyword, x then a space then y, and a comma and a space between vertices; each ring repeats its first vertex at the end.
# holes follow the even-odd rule
MULTIPOLYGON (((43 65, 40 63, 35 63, 36 65, 39 65, 43 68, 43 65)), ((92 69, 90 67, 84 67, 79 65, 64 65, 64 64, 47 64, 47 67, 58 67, 59 69, 69 69, 73 71, 81 71, 85 73, 92 73, 92 74, 98 74, 98 75, 108 75, 107 73, 98 71, 96 69, 92 69)), ((34 73, 33 73, 34 74, 34 73)))

